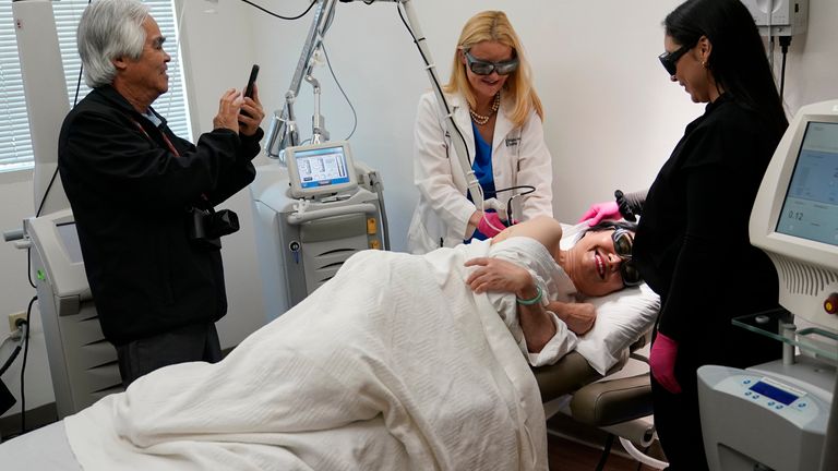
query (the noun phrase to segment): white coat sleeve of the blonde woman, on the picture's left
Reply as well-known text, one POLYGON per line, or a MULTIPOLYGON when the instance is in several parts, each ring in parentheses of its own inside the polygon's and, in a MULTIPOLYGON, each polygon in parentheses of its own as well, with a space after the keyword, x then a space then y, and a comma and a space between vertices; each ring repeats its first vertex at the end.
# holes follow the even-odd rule
POLYGON ((419 100, 414 126, 414 183, 436 217, 467 239, 468 219, 475 205, 454 185, 445 130, 436 112, 436 98, 426 94, 419 100))

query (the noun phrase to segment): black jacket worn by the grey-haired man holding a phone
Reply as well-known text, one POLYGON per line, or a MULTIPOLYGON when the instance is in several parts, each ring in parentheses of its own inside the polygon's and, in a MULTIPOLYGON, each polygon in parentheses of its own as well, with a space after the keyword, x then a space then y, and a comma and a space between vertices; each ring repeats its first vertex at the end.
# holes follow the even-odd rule
POLYGON ((213 207, 253 181, 263 135, 218 129, 195 146, 155 116, 159 125, 105 86, 70 111, 59 137, 87 280, 115 345, 227 312, 220 253, 190 240, 187 210, 213 207))

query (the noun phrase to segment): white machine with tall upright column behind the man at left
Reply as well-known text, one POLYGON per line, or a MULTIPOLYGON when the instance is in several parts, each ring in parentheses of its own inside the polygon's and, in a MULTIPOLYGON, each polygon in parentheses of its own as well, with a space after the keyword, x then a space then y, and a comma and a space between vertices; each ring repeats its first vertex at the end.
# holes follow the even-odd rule
POLYGON ((12 3, 35 150, 35 217, 4 234, 31 250, 58 416, 122 390, 117 352, 105 340, 84 273, 70 203, 58 178, 57 135, 69 111, 52 4, 12 3), (56 70, 59 64, 59 70, 56 70))

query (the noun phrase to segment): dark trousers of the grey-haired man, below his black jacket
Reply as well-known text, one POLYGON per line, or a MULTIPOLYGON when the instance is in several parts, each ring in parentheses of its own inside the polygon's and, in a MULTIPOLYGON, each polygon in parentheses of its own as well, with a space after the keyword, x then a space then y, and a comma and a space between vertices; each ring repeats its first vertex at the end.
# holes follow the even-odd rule
POLYGON ((117 346, 119 374, 127 388, 134 379, 163 366, 192 361, 216 363, 222 346, 215 323, 196 324, 117 346))

